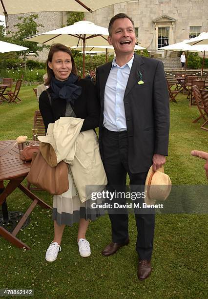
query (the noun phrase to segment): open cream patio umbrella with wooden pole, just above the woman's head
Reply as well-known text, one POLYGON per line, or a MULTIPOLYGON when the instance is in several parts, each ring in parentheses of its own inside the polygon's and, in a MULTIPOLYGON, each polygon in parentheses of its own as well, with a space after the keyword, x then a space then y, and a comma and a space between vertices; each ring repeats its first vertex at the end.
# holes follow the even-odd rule
POLYGON ((48 31, 28 37, 24 40, 42 44, 52 45, 53 43, 62 43, 66 46, 74 44, 83 46, 83 76, 84 76, 84 59, 86 41, 93 38, 93 42, 97 45, 105 45, 107 42, 108 29, 97 26, 90 21, 79 21, 73 25, 48 31))

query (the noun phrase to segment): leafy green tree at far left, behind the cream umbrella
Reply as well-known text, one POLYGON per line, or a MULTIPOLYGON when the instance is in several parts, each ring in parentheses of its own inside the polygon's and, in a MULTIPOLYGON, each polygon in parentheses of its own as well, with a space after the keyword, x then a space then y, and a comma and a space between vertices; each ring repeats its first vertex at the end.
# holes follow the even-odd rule
POLYGON ((38 19, 37 14, 30 15, 29 17, 18 17, 21 21, 14 25, 18 30, 16 32, 9 31, 12 34, 11 39, 13 43, 19 44, 23 47, 27 47, 27 51, 19 52, 21 55, 26 55, 28 52, 33 52, 34 56, 38 56, 38 51, 42 51, 45 47, 44 45, 38 45, 38 43, 32 43, 24 41, 24 38, 36 35, 39 27, 44 27, 42 24, 38 24, 35 20, 38 19))

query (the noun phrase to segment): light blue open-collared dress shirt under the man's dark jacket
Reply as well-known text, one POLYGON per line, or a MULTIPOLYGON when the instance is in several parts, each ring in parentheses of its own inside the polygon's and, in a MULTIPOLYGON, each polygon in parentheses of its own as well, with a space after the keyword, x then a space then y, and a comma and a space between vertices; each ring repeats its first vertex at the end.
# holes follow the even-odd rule
POLYGON ((134 55, 123 66, 116 64, 113 59, 112 67, 107 78, 104 90, 104 122, 103 125, 110 131, 125 131, 124 94, 128 82, 134 55))

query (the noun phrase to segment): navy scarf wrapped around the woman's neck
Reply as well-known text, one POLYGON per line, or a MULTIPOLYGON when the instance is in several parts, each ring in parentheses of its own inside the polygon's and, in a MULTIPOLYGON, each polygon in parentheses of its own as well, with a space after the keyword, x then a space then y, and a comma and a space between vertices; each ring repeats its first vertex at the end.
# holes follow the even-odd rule
POLYGON ((64 99, 74 105, 74 100, 76 100, 82 93, 82 87, 75 84, 77 80, 78 77, 73 73, 71 73, 65 81, 59 81, 55 77, 52 77, 50 87, 53 93, 51 94, 51 97, 53 99, 64 99))

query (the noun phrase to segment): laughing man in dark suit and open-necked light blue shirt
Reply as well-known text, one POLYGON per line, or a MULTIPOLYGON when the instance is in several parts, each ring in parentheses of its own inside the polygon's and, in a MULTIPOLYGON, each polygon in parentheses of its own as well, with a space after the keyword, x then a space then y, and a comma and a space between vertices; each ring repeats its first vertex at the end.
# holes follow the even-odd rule
MULTIPOLYGON (((125 191, 126 173, 132 189, 137 191, 141 185, 144 187, 150 166, 153 164, 156 171, 166 162, 169 131, 166 78, 162 62, 134 54, 134 23, 127 15, 114 16, 108 30, 108 43, 113 45, 116 58, 98 67, 96 73, 101 102, 101 156, 110 191, 125 191)), ((112 242, 104 248, 104 256, 114 254, 129 242, 125 212, 108 211, 112 242)), ((145 279, 151 273, 154 213, 135 212, 138 278, 145 279)))

